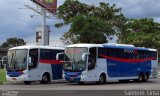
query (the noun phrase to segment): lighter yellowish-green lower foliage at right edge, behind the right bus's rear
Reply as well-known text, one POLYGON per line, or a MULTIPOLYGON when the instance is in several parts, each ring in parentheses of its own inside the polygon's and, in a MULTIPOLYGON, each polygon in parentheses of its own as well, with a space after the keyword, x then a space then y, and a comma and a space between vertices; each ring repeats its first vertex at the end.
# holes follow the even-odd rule
POLYGON ((135 46, 158 48, 160 47, 160 31, 154 33, 130 32, 123 40, 123 43, 134 44, 135 46))

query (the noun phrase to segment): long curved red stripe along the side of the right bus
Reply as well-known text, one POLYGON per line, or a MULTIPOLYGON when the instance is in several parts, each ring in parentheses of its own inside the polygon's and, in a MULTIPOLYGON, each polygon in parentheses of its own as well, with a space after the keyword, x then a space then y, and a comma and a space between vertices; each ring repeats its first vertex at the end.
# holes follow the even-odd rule
POLYGON ((106 59, 119 61, 119 62, 126 62, 126 63, 140 63, 140 62, 146 62, 146 61, 150 61, 152 59, 155 59, 155 57, 144 58, 144 59, 124 59, 124 58, 115 58, 115 57, 111 57, 111 56, 106 56, 106 55, 102 55, 102 54, 98 54, 98 55, 103 58, 106 58, 106 59))

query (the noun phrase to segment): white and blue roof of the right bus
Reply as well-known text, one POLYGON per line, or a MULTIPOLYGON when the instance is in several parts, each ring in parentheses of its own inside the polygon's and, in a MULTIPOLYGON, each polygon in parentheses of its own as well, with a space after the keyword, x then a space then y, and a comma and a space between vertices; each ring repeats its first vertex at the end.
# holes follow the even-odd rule
POLYGON ((107 47, 107 48, 121 48, 121 49, 132 49, 132 50, 146 50, 146 51, 157 51, 156 49, 135 47, 129 44, 116 44, 116 43, 105 43, 105 44, 72 44, 67 47, 107 47))

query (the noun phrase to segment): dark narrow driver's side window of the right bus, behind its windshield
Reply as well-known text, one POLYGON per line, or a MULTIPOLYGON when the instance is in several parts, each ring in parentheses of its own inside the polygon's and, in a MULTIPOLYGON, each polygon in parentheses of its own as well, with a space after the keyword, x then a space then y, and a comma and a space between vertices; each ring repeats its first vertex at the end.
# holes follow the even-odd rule
POLYGON ((95 65, 96 65, 96 54, 97 54, 97 50, 96 48, 90 48, 89 50, 90 55, 88 58, 88 70, 94 69, 95 65))

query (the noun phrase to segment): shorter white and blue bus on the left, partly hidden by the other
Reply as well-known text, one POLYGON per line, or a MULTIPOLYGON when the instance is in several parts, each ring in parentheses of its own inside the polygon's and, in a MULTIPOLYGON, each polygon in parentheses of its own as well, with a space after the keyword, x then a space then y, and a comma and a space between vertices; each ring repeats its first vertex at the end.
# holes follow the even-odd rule
POLYGON ((7 81, 23 81, 30 84, 40 81, 62 79, 62 64, 56 54, 64 52, 61 47, 19 46, 8 50, 6 64, 7 81))

